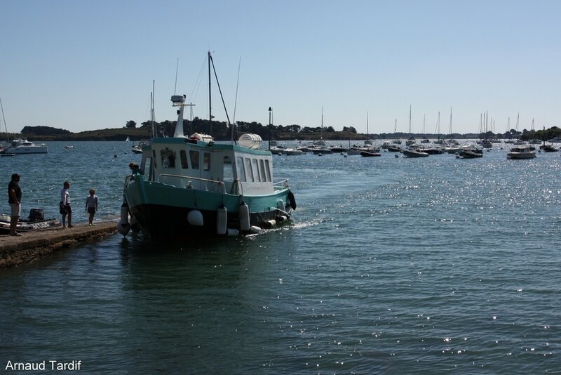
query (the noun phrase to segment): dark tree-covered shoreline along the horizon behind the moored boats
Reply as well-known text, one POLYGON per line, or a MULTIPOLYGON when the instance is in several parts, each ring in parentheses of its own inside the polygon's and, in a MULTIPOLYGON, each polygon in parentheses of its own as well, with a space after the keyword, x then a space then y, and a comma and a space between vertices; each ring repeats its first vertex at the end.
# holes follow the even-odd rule
MULTIPOLYGON (((27 138, 28 140, 142 140, 150 137, 152 126, 156 129, 158 136, 173 136, 176 121, 154 122, 145 121, 137 126, 133 120, 127 121, 122 128, 116 129, 100 129, 93 131, 81 131, 72 133, 65 129, 57 129, 51 126, 25 126, 21 133, 0 133, 0 139, 27 138)), ((184 119, 183 131, 185 135, 193 133, 207 133, 215 138, 215 140, 229 140, 231 138, 231 126, 225 121, 208 121, 208 119, 200 119, 195 117, 192 121, 184 119)), ((317 140, 320 137, 324 140, 361 140, 361 139, 396 139, 396 138, 498 138, 498 139, 540 139, 548 140, 554 137, 561 137, 561 129, 557 126, 551 126, 549 129, 515 131, 511 129, 505 133, 466 133, 466 134, 433 134, 433 133, 379 133, 379 134, 363 134, 358 133, 353 126, 344 126, 342 131, 336 131, 332 126, 299 126, 293 125, 263 125, 259 122, 237 121, 235 134, 239 136, 243 133, 258 134, 264 140, 317 140)))

